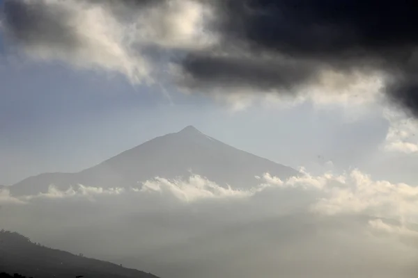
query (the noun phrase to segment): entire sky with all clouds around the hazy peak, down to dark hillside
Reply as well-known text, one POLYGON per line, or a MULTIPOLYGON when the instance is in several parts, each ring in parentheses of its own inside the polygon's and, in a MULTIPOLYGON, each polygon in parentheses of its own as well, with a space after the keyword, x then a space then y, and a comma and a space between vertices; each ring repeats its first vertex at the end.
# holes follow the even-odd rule
POLYGON ((0 184, 189 125, 301 173, 0 187, 1 229, 167 278, 416 276, 412 1, 0 5, 0 184))

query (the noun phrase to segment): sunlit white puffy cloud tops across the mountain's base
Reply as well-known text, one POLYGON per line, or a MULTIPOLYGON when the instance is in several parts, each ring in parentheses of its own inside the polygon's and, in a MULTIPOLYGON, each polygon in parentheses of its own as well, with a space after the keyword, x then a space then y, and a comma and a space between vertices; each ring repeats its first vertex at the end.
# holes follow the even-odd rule
MULTIPOLYGON (((389 181, 374 181, 359 170, 339 175, 326 172, 313 176, 301 170, 302 176, 291 177, 282 181, 265 173, 256 177, 260 184, 249 190, 224 188, 199 175, 189 179, 164 179, 156 177, 146 181, 141 188, 95 188, 78 186, 61 191, 54 186, 47 193, 34 196, 10 197, 8 190, 1 190, 2 202, 31 202, 36 199, 63 199, 81 197, 98 200, 104 196, 144 199, 148 197, 160 200, 171 199, 177 203, 193 204, 203 200, 232 200, 286 194, 287 189, 295 193, 311 194, 307 209, 314 213, 325 215, 364 214, 381 218, 391 218, 401 222, 418 222, 418 187, 405 183, 390 183, 389 181)), ((297 201, 297 200, 296 200, 297 201)), ((248 201, 249 202, 249 201, 248 201)))

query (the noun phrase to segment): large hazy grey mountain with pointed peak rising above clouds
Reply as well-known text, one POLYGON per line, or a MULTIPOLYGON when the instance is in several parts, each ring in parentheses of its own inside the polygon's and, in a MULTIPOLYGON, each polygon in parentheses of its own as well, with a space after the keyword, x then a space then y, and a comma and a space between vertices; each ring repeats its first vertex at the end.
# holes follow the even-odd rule
POLYGON ((199 174, 220 186, 249 188, 265 172, 286 179, 299 174, 268 159, 235 149, 206 136, 193 126, 149 140, 99 165, 78 173, 47 173, 10 187, 13 195, 46 192, 49 185, 67 189, 83 184, 102 188, 139 187, 154 177, 172 179, 199 174))

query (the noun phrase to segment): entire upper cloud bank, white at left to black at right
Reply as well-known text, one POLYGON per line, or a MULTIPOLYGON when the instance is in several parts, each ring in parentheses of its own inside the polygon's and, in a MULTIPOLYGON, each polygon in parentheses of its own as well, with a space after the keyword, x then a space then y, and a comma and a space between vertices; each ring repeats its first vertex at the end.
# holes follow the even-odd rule
POLYGON ((411 5, 6 0, 2 26, 32 58, 118 72, 134 83, 171 80, 229 100, 242 92, 300 98, 316 88, 321 94, 313 99, 369 101, 385 92, 417 115, 418 22, 411 5))

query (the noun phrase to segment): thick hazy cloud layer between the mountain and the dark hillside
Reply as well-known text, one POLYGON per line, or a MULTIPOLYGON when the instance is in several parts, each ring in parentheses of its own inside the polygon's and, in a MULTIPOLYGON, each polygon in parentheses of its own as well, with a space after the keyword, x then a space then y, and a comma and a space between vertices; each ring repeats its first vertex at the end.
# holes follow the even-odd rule
POLYGON ((20 199, 3 190, 0 222, 42 244, 162 277, 414 277, 414 186, 358 170, 258 179, 250 190, 199 176, 20 199))

